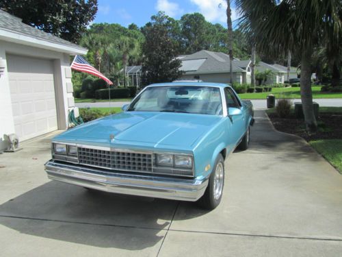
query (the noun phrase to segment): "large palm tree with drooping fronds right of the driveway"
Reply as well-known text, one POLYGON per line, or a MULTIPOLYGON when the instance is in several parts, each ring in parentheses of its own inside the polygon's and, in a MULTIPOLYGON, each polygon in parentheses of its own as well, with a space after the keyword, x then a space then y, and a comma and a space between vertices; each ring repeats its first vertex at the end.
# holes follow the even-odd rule
POLYGON ((254 35, 258 51, 269 56, 300 55, 300 94, 306 129, 317 130, 311 90, 311 58, 318 42, 339 45, 341 0, 235 0, 239 25, 254 35))

